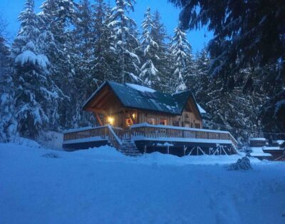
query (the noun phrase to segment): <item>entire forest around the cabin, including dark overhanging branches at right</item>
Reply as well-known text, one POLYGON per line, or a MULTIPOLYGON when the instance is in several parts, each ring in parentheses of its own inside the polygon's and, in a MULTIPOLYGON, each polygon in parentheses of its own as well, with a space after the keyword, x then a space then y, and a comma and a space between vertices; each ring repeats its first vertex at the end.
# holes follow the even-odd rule
POLYGON ((136 24, 134 0, 113 0, 112 6, 45 0, 38 13, 26 0, 11 43, 1 18, 0 141, 93 126, 95 118, 81 107, 108 80, 167 93, 190 89, 209 114, 209 128, 230 131, 239 141, 284 133, 284 3, 258 11, 223 1, 229 5, 215 11, 207 1, 170 2, 182 10, 172 36, 159 11, 145 9, 136 24), (194 54, 187 31, 200 26, 214 38, 194 54))

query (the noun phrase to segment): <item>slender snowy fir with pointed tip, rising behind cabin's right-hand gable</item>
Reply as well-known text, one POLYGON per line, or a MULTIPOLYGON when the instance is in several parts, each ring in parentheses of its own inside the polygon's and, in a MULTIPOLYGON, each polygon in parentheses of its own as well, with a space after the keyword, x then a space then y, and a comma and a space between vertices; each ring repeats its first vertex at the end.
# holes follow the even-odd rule
POLYGON ((185 81, 189 72, 191 61, 191 46, 187 41, 187 36, 180 27, 175 29, 172 39, 171 54, 174 60, 172 67, 172 88, 174 91, 185 91, 187 88, 185 81))

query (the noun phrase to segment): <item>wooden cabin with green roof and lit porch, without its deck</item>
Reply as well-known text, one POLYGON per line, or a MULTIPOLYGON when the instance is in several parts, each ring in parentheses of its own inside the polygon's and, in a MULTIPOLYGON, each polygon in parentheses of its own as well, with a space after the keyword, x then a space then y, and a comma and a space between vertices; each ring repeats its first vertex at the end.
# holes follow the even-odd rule
POLYGON ((100 126, 129 128, 138 123, 202 128, 202 116, 191 91, 160 93, 135 84, 107 81, 84 104, 100 126))

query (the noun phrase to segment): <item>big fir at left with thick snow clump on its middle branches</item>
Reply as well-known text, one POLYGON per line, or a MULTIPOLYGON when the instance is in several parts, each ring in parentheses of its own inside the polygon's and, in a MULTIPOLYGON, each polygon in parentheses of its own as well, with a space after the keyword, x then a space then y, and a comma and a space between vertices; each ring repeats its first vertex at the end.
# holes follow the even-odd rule
POLYGON ((46 55, 38 46, 38 19, 33 0, 27 0, 19 16, 20 31, 12 45, 13 80, 16 87, 16 119, 21 136, 35 137, 58 121, 58 88, 51 79, 46 55))

